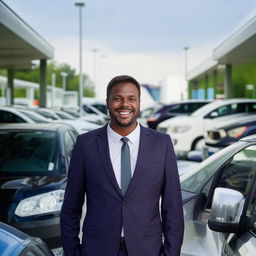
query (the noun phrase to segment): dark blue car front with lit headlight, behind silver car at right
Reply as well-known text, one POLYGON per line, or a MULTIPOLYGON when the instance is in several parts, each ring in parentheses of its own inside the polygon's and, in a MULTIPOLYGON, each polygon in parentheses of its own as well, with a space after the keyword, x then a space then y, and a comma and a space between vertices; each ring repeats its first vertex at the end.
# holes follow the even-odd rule
POLYGON ((205 145, 212 154, 252 134, 256 134, 256 114, 222 120, 206 132, 205 145))

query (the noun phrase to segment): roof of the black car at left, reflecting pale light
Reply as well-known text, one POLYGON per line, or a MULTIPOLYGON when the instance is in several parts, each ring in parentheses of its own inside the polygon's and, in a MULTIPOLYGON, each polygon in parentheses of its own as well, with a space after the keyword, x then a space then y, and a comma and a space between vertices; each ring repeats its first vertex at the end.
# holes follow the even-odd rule
POLYGON ((8 123, 0 124, 0 130, 38 130, 57 131, 59 128, 72 129, 70 125, 63 123, 8 123))

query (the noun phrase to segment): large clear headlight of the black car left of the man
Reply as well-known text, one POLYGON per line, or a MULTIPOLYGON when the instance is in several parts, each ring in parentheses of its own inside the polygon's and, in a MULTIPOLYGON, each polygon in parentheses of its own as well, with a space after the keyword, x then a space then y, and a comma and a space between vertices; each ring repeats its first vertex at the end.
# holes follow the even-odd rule
POLYGON ((65 190, 59 189, 21 200, 15 210, 19 217, 60 211, 65 190))

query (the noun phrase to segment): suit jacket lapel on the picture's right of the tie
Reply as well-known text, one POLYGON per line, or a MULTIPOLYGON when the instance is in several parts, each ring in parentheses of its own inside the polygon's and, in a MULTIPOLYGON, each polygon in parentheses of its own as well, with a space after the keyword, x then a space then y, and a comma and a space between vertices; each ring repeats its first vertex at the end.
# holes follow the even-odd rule
POLYGON ((140 131, 140 145, 139 145, 139 152, 137 157, 137 163, 135 166, 135 170, 133 173, 133 177, 130 181, 130 184, 127 188, 127 192, 125 194, 125 197, 128 198, 132 191, 134 190, 136 184, 139 182, 140 178, 143 175, 143 163, 146 162, 147 159, 149 159, 149 153, 150 153, 150 134, 148 130, 143 127, 141 127, 140 131))

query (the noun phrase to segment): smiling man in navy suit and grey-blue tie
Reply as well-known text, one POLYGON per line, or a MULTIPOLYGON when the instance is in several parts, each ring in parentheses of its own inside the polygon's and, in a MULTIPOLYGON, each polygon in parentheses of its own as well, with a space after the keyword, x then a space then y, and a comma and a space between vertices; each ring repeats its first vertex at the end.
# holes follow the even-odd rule
POLYGON ((61 213, 65 256, 179 256, 184 223, 170 137, 137 123, 133 77, 109 82, 107 107, 110 123, 80 135, 72 153, 61 213))

